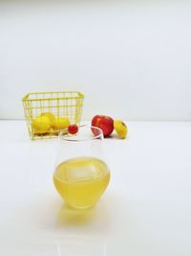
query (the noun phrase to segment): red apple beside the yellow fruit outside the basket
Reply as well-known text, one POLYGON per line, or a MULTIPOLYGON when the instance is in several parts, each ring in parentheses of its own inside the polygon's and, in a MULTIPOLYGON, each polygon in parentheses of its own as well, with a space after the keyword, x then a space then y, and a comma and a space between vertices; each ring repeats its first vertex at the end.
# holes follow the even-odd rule
MULTIPOLYGON (((114 130, 114 120, 109 116, 96 115, 92 120, 92 126, 102 129, 104 137, 107 137, 114 130)), ((93 133, 97 135, 94 129, 93 133)))

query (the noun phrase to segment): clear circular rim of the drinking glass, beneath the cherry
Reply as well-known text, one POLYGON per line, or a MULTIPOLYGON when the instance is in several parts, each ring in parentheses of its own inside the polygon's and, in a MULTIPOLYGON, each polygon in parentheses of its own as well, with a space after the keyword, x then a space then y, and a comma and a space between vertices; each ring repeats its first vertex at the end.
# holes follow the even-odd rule
MULTIPOLYGON (((94 128, 94 129, 96 129, 97 131, 99 131, 99 134, 98 134, 98 135, 95 135, 95 134, 92 132, 93 137, 91 137, 91 138, 83 138, 83 139, 82 139, 82 138, 77 138, 77 137, 74 138, 74 135, 75 135, 75 134, 69 134, 69 133, 68 133, 68 128, 64 128, 64 129, 62 129, 62 130, 59 131, 59 133, 58 133, 58 139, 64 140, 64 141, 80 142, 80 141, 91 141, 91 140, 95 140, 95 139, 98 139, 98 138, 100 138, 101 140, 103 140, 103 138, 104 138, 104 136, 103 136, 103 131, 102 131, 101 128, 97 128, 97 127, 94 127, 94 126, 91 126, 91 125, 81 125, 81 126, 78 126, 78 128, 79 128, 79 129, 80 129, 80 128, 90 128, 90 129, 94 128)), ((77 135, 77 133, 76 133, 76 135, 77 135)))

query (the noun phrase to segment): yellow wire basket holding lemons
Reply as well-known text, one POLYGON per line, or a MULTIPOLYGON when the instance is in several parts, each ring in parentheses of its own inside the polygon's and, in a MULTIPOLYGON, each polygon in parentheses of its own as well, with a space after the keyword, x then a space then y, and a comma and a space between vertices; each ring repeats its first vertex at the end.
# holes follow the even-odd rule
POLYGON ((77 91, 28 93, 22 102, 31 139, 57 136, 61 127, 55 128, 52 123, 49 124, 48 117, 52 117, 58 123, 68 120, 70 124, 79 125, 83 100, 84 95, 77 91), (46 118, 43 119, 42 116, 46 118), (40 131, 34 128, 34 123, 39 128, 42 127, 40 131))

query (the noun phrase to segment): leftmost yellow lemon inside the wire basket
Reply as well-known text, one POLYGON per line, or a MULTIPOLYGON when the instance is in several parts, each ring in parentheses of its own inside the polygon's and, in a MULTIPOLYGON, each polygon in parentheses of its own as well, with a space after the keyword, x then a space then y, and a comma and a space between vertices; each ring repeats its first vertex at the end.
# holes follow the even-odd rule
POLYGON ((35 133, 40 133, 40 134, 46 133, 51 128, 51 121, 46 116, 36 117, 32 121, 32 128, 35 133))

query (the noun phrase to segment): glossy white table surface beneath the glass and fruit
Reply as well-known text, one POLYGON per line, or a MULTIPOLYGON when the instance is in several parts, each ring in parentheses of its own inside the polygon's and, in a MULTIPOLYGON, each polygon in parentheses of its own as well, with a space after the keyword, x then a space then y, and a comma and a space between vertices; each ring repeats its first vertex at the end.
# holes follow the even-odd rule
POLYGON ((0 121, 0 255, 191 255, 191 123, 127 124, 126 140, 105 140, 105 195, 81 212, 53 187, 56 140, 0 121))

